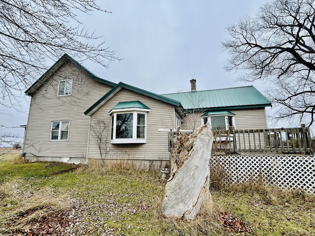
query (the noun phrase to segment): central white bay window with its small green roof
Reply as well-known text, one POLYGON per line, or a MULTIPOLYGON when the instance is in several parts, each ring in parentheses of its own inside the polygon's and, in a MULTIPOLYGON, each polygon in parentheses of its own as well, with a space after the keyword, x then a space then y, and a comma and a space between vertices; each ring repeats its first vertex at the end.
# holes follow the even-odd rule
POLYGON ((139 101, 118 103, 109 113, 112 115, 111 143, 147 143, 147 113, 150 111, 139 101))

